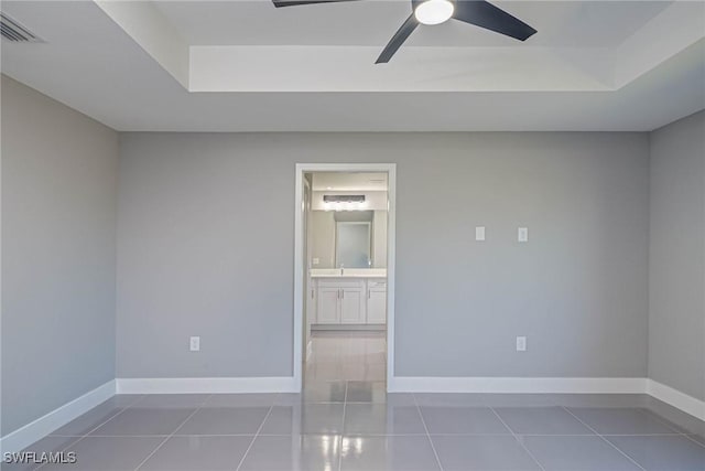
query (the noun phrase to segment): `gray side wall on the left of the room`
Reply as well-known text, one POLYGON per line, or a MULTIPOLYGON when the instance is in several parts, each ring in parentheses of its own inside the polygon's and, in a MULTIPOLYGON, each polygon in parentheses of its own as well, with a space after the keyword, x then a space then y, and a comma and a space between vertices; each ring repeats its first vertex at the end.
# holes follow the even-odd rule
POLYGON ((115 378, 118 136, 2 76, 2 433, 115 378))

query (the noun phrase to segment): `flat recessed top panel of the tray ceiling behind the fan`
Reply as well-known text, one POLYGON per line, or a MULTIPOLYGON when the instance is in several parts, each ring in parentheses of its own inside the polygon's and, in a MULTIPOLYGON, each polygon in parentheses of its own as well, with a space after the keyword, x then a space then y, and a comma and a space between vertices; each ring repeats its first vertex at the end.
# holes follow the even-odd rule
MULTIPOLYGON (((622 43, 665 1, 496 1, 541 34, 533 45, 622 43)), ((260 1, 156 1, 193 45, 369 45, 381 47, 411 13, 410 0, 365 0, 276 9, 260 1)), ((459 21, 414 31, 410 46, 511 46, 512 39, 459 21)))

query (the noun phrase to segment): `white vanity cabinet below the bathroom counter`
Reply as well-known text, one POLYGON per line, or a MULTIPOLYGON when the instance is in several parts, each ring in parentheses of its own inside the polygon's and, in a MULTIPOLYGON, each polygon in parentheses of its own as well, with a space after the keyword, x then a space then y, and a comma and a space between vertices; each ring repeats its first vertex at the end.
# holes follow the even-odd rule
POLYGON ((387 280, 322 277, 314 282, 315 324, 364 325, 387 322, 387 280))

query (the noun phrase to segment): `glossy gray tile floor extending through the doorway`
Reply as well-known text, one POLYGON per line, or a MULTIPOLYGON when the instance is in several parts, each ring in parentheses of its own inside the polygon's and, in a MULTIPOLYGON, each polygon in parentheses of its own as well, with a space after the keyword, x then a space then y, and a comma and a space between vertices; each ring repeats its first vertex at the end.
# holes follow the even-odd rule
POLYGON ((647 396, 386 394, 371 363, 339 377, 380 339, 339 339, 302 394, 116 396, 29 449, 76 452, 43 471, 705 470, 702 422, 647 396))

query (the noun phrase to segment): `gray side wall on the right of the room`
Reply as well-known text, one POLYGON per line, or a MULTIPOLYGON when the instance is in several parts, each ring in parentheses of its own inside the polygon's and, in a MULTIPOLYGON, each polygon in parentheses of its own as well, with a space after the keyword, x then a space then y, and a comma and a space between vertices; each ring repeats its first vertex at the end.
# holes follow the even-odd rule
POLYGON ((650 139, 649 377, 705 400, 705 111, 650 139))

